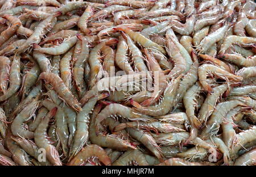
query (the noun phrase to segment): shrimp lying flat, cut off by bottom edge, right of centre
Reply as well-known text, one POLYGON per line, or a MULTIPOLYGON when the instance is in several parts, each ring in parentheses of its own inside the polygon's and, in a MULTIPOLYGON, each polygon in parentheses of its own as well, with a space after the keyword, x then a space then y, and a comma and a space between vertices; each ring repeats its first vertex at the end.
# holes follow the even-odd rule
POLYGON ((181 158, 170 158, 156 166, 213 166, 210 162, 189 162, 181 158))

